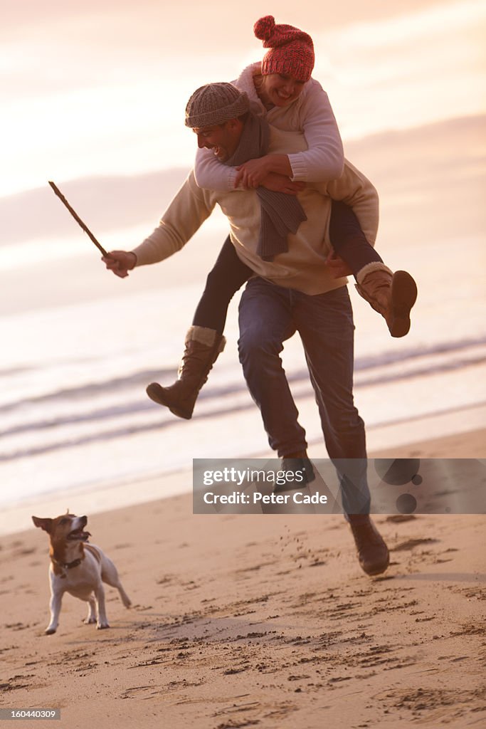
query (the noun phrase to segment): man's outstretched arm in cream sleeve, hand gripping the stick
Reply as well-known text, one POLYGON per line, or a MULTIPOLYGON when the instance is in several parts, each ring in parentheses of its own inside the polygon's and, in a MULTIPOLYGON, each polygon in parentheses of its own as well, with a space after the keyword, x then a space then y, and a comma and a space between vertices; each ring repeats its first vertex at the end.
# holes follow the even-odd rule
POLYGON ((158 263, 181 250, 213 211, 215 198, 197 187, 191 172, 173 198, 153 233, 133 251, 111 251, 103 257, 106 268, 125 278, 136 266, 158 263))

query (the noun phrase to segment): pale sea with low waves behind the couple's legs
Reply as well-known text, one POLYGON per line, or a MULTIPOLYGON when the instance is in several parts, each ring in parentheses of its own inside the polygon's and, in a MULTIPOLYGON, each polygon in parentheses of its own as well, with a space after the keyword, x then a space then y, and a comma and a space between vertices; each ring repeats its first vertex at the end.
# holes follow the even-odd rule
MULTIPOLYGON (((462 245, 469 260, 484 259, 481 238, 462 245)), ((423 436, 418 424, 424 418, 442 416, 447 423, 454 416, 463 429, 486 424, 484 267, 472 266, 452 285, 455 250, 451 240, 442 241, 440 256, 434 246, 427 257, 412 248, 407 252, 404 263, 414 271, 420 293, 412 331, 401 340, 388 335, 383 319, 350 283, 356 405, 371 447, 380 447, 374 434, 393 424, 401 424, 409 443, 423 436)), ((33 296, 21 311, 0 315, 0 507, 58 491, 141 483, 190 469, 195 458, 272 455, 238 362, 238 295, 230 306, 226 349, 192 420, 176 418, 146 396, 150 382, 176 378, 206 270, 201 265, 189 277, 179 270, 177 276, 161 276, 160 284, 128 292, 120 281, 109 296, 98 287, 82 300, 42 308, 33 296)), ((34 289, 34 264, 31 273, 34 289)), ((324 458, 298 335, 286 343, 282 358, 307 439, 324 458)), ((426 435, 442 432, 443 426, 432 426, 426 435)), ((141 498, 137 488, 134 502, 141 498)))

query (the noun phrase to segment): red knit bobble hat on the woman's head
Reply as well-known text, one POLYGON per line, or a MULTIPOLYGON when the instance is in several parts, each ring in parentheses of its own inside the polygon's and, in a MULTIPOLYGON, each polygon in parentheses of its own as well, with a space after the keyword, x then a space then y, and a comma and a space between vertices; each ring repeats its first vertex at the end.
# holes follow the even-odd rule
POLYGON ((312 38, 294 26, 275 25, 273 15, 256 21, 254 34, 270 50, 262 61, 262 74, 289 74, 298 81, 308 81, 314 68, 312 38))

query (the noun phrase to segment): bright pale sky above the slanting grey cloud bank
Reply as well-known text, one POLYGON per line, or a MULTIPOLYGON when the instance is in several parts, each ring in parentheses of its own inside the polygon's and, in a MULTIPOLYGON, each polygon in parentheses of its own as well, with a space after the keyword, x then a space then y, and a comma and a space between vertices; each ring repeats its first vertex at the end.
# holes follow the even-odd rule
POLYGON ((345 141, 486 112, 484 0, 304 5, 0 0, 0 198, 189 167, 187 98, 262 58, 265 14, 313 37, 345 141))

